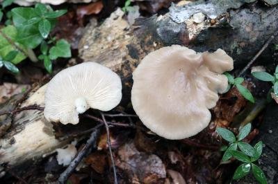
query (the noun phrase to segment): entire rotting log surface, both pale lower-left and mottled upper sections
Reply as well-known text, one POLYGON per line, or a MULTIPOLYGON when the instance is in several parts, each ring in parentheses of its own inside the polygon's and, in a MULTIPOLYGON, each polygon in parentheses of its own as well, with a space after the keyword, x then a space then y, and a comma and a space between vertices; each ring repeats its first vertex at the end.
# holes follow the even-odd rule
MULTIPOLYGON (((132 71, 145 55, 162 46, 181 44, 200 52, 222 48, 234 58, 236 66, 244 65, 277 30, 278 8, 256 2, 237 1, 235 5, 228 0, 219 2, 215 0, 190 5, 190 10, 196 7, 202 9, 202 5, 215 10, 227 4, 224 9, 215 11, 219 15, 213 19, 207 18, 201 24, 193 23, 191 15, 195 12, 190 10, 187 11, 189 17, 181 16, 179 21, 173 18, 187 10, 184 6, 172 7, 165 15, 138 19, 136 25, 131 27, 122 19, 124 13, 119 9, 100 26, 88 25, 79 44, 80 56, 84 61, 108 66, 122 77, 124 107, 130 102, 132 71)), ((206 17, 212 16, 209 12, 204 13, 208 14, 206 17)), ((265 50, 262 59, 271 58, 271 51, 271 48, 265 50)), ((28 104, 43 107, 44 91, 40 90, 40 93, 31 95, 22 107, 28 104)), ((56 139, 52 126, 44 120, 40 111, 19 113, 0 140, 0 163, 16 166, 26 160, 37 160, 70 142, 71 138, 66 135, 56 139)))

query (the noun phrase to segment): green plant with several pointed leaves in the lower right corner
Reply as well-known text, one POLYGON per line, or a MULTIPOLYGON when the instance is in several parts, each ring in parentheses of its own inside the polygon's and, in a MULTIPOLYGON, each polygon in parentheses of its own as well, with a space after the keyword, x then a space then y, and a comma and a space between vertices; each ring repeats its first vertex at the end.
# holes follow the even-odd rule
POLYGON ((251 131, 251 123, 248 123, 242 129, 240 129, 238 136, 235 136, 234 133, 228 129, 221 127, 218 127, 216 131, 224 140, 229 142, 228 146, 221 147, 221 151, 225 151, 222 160, 227 161, 234 157, 236 160, 239 160, 242 163, 234 172, 233 179, 237 180, 243 178, 252 170, 253 176, 257 181, 259 181, 259 183, 267 183, 263 170, 254 164, 254 162, 256 162, 256 160, 258 160, 261 156, 263 151, 263 142, 257 142, 254 147, 252 147, 247 142, 243 142, 243 139, 251 131), (238 151, 238 149, 240 151, 238 151))

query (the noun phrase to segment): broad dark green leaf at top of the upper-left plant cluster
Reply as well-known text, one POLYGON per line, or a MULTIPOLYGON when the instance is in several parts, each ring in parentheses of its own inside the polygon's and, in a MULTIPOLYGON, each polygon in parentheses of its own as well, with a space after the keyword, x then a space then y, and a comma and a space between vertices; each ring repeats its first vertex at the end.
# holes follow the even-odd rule
POLYGON ((13 8, 13 24, 15 27, 22 26, 26 24, 26 22, 34 17, 38 17, 35 13, 34 8, 26 8, 26 7, 19 7, 13 8))

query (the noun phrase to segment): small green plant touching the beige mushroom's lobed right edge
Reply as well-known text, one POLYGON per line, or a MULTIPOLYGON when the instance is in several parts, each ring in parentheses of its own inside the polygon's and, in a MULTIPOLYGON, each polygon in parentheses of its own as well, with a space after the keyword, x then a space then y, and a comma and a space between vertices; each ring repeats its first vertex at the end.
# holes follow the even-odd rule
POLYGON ((234 76, 232 76, 227 72, 225 72, 224 75, 226 75, 226 77, 228 78, 228 83, 229 83, 228 90, 231 88, 231 86, 236 86, 240 94, 243 95, 245 99, 249 100, 252 103, 255 102, 252 93, 247 88, 245 88, 245 86, 242 85, 244 81, 243 77, 234 78, 234 76))

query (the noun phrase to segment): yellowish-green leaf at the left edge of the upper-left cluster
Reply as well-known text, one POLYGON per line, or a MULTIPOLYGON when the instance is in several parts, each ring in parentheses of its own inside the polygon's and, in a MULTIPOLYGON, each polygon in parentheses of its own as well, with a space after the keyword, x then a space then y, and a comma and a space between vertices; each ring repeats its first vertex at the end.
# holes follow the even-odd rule
MULTIPOLYGON (((1 29, 1 33, 0 33, 0 57, 5 57, 6 55, 8 55, 8 53, 10 53, 10 51, 13 50, 17 50, 17 48, 15 48, 15 46, 13 44, 11 44, 10 42, 14 42, 15 45, 17 45, 19 48, 21 48, 22 50, 26 50, 26 48, 22 45, 16 42, 16 37, 17 37, 17 29, 15 28, 15 26, 6 26, 5 28, 1 29)), ((24 60, 26 58, 26 55, 24 55, 24 53, 22 53, 19 50, 19 53, 17 54, 17 56, 15 57, 15 59, 13 59, 13 64, 17 64, 19 62, 21 62, 22 60, 24 60)))

